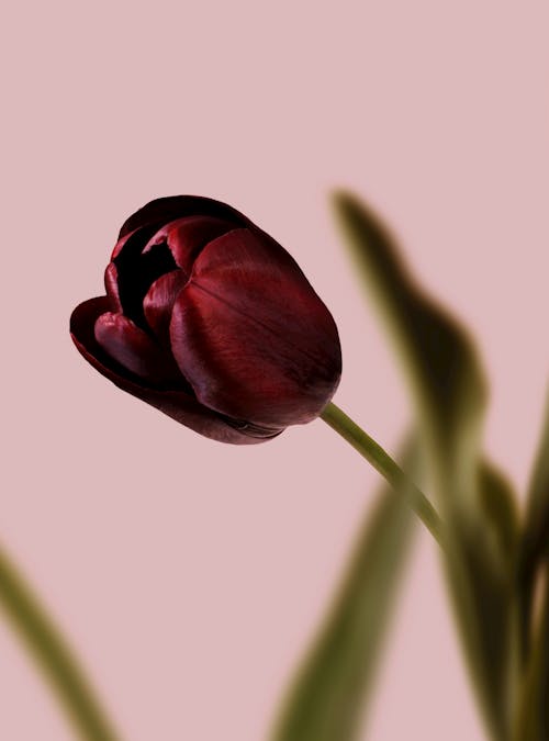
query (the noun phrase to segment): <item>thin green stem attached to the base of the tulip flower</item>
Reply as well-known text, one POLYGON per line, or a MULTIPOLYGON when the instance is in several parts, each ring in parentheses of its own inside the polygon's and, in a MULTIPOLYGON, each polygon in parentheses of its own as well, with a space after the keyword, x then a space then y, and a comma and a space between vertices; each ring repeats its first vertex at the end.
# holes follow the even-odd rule
MULTIPOLYGON (((393 489, 403 491, 402 484, 407 480, 404 471, 393 461, 391 456, 389 456, 373 438, 365 433, 363 429, 352 422, 345 412, 330 403, 324 409, 321 417, 332 427, 332 429, 335 429, 336 433, 347 440, 355 450, 358 450, 362 458, 366 458, 366 460, 371 463, 382 476, 384 476, 393 489)), ((436 541, 441 544, 442 524, 440 518, 428 498, 415 484, 412 484, 410 505, 425 527, 435 537, 436 541)))

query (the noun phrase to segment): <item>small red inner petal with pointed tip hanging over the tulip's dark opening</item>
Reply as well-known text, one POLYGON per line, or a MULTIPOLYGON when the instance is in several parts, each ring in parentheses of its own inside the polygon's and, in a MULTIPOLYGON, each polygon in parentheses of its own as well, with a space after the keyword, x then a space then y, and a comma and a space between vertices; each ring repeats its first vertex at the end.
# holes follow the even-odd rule
POLYGON ((188 278, 195 258, 208 243, 233 228, 234 224, 213 216, 187 216, 163 226, 147 243, 143 254, 166 242, 177 266, 188 278))

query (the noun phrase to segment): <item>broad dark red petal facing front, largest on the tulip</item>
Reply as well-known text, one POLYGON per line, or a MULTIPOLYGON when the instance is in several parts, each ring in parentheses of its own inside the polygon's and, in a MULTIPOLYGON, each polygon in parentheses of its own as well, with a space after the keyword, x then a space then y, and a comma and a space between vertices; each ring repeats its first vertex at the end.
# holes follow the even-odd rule
POLYGON ((208 245, 176 300, 170 335, 199 401, 258 425, 310 422, 339 382, 332 315, 261 233, 237 229, 208 245))

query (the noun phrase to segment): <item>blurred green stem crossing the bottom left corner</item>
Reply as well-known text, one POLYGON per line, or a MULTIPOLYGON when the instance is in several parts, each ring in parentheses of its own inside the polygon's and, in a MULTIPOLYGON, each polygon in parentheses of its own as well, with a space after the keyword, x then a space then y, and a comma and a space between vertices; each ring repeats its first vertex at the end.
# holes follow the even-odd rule
POLYGON ((83 741, 117 741, 93 692, 44 608, 0 550, 0 607, 64 705, 83 741))

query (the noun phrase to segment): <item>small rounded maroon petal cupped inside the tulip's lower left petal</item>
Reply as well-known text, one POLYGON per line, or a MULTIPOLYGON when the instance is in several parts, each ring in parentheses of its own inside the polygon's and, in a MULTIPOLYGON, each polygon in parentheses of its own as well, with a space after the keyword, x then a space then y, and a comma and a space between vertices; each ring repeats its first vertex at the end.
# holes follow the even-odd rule
POLYGON ((96 339, 103 350, 131 373, 158 385, 179 380, 171 357, 123 314, 107 312, 96 322, 96 339))

